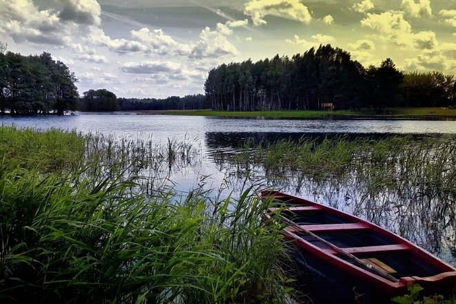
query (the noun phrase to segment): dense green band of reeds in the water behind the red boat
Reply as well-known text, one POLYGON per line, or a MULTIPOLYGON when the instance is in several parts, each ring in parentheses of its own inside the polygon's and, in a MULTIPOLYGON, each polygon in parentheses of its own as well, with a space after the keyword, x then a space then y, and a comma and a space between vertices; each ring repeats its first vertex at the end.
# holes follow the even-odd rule
POLYGON ((451 136, 415 139, 410 135, 379 140, 344 137, 321 141, 302 138, 298 142, 247 141, 243 151, 216 155, 216 161, 237 167, 263 167, 265 175, 343 182, 354 179, 368 191, 396 190, 406 185, 421 187, 421 194, 456 193, 455 138, 451 136))

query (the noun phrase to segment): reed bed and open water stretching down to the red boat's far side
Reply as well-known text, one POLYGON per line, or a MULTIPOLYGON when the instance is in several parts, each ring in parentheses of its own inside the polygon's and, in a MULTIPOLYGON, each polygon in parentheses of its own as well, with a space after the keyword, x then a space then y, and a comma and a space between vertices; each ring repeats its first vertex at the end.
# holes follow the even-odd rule
MULTIPOLYGON (((242 175, 348 211, 452 260, 456 252, 456 138, 411 135, 245 144, 215 155, 242 175)), ((453 263, 456 263, 454 260, 453 263)))

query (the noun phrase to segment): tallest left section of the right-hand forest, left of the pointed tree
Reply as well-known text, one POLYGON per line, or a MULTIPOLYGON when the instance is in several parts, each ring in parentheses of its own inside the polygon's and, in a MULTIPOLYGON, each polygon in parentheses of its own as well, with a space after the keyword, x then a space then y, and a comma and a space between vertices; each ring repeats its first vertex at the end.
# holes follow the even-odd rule
POLYGON ((364 70, 340 48, 319 46, 303 55, 222 64, 205 82, 207 105, 218 111, 319 110, 361 106, 364 70))

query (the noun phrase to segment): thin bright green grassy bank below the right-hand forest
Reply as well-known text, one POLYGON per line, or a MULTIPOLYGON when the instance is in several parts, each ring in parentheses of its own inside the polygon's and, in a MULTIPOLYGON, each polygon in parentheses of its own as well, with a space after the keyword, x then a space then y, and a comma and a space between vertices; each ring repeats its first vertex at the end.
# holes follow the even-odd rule
POLYGON ((328 115, 341 116, 409 116, 409 117, 456 117, 456 109, 452 108, 387 108, 386 111, 376 110, 362 111, 212 111, 212 110, 168 110, 168 111, 139 111, 138 113, 156 115, 193 115, 193 116, 212 116, 212 117, 271 117, 271 118, 315 118, 328 115))

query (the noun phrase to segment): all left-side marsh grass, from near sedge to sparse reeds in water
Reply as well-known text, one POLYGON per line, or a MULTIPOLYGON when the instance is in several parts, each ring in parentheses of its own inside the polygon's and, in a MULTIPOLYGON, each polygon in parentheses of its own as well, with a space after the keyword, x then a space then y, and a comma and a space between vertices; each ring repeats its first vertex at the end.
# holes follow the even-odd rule
POLYGON ((2 303, 287 301, 282 227, 254 189, 179 198, 142 176, 198 158, 191 143, 0 130, 2 303))

